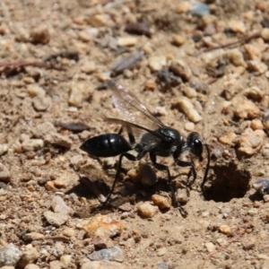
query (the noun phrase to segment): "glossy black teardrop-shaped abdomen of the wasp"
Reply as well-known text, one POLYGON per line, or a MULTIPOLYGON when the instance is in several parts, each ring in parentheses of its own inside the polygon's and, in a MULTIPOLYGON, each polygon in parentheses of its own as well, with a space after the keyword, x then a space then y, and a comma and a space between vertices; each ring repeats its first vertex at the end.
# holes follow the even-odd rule
POLYGON ((113 157, 132 150, 131 145, 120 134, 101 134, 84 143, 80 149, 96 157, 113 157))

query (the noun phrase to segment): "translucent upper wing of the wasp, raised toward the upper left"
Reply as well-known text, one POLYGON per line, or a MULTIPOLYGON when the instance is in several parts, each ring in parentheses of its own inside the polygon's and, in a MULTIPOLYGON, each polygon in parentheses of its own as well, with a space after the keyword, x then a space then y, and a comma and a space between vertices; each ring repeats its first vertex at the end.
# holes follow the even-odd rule
POLYGON ((134 126, 136 128, 139 126, 141 130, 146 132, 164 126, 160 119, 153 116, 152 112, 134 97, 132 92, 112 80, 107 80, 107 85, 113 91, 112 100, 126 126, 129 122, 133 124, 132 129, 134 126))

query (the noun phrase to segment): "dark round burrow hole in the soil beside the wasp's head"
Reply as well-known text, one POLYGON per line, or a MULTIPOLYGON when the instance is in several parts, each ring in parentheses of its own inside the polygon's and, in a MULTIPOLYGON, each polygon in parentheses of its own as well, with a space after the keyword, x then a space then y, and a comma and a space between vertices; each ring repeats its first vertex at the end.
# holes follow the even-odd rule
POLYGON ((204 199, 215 202, 229 202, 233 198, 242 198, 249 189, 250 173, 239 169, 234 163, 216 164, 213 176, 209 178, 211 186, 204 189, 204 199))

